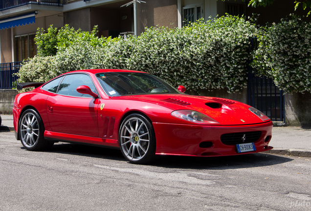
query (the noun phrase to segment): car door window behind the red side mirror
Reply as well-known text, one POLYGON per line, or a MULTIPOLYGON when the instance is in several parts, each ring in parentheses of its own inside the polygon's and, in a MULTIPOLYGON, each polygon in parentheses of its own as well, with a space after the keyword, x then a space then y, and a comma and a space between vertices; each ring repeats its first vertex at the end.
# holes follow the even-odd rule
POLYGON ((88 94, 82 94, 77 92, 78 86, 87 85, 92 92, 96 92, 95 86, 91 78, 86 74, 70 74, 65 76, 62 83, 59 85, 57 94, 75 96, 75 97, 87 97, 91 98, 88 94))

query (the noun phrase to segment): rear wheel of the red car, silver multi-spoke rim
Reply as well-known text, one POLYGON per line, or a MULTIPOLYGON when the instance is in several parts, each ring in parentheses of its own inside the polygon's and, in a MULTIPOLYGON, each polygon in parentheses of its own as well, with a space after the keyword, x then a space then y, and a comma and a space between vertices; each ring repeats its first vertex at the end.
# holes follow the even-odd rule
POLYGON ((22 113, 19 123, 19 134, 22 146, 27 150, 39 151, 51 148, 54 142, 44 139, 44 124, 33 109, 27 109, 22 113))

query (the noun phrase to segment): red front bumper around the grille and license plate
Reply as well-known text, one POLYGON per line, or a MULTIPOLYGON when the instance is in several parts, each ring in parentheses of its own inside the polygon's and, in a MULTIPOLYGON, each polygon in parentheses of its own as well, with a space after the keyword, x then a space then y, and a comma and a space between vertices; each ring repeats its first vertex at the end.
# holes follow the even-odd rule
POLYGON ((227 156, 262 152, 272 149, 272 122, 243 126, 198 126, 153 123, 156 137, 156 154, 187 156, 227 156), (236 145, 225 145, 221 135, 227 133, 261 131, 254 142, 256 151, 238 153, 236 145), (202 142, 212 142, 212 146, 200 147, 202 142))

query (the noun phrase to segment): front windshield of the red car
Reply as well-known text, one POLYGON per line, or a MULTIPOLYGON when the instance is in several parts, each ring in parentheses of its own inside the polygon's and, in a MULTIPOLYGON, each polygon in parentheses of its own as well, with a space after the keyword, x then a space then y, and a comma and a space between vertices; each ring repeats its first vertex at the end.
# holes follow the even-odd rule
POLYGON ((110 96, 148 93, 180 93, 170 84, 148 73, 108 72, 96 77, 110 96))

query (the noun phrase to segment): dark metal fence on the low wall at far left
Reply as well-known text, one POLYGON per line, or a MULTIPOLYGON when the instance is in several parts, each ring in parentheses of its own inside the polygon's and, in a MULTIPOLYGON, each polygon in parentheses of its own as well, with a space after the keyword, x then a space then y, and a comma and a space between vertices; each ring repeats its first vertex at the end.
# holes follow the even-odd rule
POLYGON ((0 63, 0 89, 16 88, 17 73, 22 66, 22 62, 0 63))

